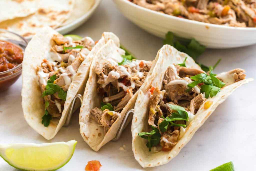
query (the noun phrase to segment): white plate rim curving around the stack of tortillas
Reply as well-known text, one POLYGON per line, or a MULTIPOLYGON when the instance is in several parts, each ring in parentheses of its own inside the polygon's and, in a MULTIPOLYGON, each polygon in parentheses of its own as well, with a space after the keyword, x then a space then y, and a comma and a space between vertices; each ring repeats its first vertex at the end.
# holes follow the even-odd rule
MULTIPOLYGON (((55 30, 57 32, 59 32, 60 34, 64 35, 64 34, 71 32, 72 30, 76 29, 77 27, 82 25, 84 22, 86 22, 91 17, 91 15, 94 13, 94 11, 99 6, 100 2, 101 2, 101 0, 95 0, 94 5, 91 7, 91 9, 88 12, 86 12, 83 16, 81 16, 80 18, 77 18, 76 20, 74 20, 73 22, 71 22, 65 26, 56 28, 55 30)), ((28 37, 26 39, 31 39, 32 37, 33 36, 28 37)))

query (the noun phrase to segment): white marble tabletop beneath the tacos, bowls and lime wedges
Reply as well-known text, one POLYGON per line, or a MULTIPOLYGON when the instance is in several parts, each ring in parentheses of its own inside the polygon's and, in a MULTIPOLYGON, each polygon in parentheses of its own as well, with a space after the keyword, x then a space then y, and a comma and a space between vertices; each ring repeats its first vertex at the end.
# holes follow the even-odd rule
MULTIPOLYGON (((118 35, 121 43, 139 59, 153 59, 162 46, 162 39, 130 23, 110 0, 103 1, 91 19, 71 33, 97 40, 104 31, 118 35)), ((246 69, 248 78, 256 78, 255 48, 256 45, 236 49, 207 49, 198 61, 213 65, 222 58, 216 73, 240 67, 246 69)), ((24 119, 21 87, 22 79, 19 78, 10 89, 0 93, 0 143, 49 143, 76 139, 78 144, 72 159, 59 170, 82 171, 89 160, 99 160, 103 165, 101 170, 142 170, 131 150, 131 125, 125 129, 118 142, 110 142, 99 152, 94 152, 80 136, 76 113, 70 126, 63 127, 54 139, 48 141, 30 128, 24 119), (119 150, 122 145, 126 145, 127 152, 119 150)), ((144 170, 207 171, 229 161, 233 161, 237 171, 255 170, 255 88, 255 81, 240 87, 219 105, 176 158, 166 165, 144 170)), ((0 158, 0 170, 17 169, 0 158)))

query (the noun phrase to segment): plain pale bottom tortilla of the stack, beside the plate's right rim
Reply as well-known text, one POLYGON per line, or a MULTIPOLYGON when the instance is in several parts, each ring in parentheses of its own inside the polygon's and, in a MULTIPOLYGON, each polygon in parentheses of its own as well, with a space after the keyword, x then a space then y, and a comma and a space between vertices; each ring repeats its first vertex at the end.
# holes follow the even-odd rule
POLYGON ((87 13, 94 5, 95 0, 76 0, 70 17, 61 26, 65 26, 87 13))

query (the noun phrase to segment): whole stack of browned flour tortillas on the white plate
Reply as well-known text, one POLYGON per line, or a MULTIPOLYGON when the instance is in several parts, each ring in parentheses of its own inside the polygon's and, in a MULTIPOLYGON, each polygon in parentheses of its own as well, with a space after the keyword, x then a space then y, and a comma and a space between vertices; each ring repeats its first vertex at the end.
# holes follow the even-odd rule
POLYGON ((0 28, 24 37, 42 27, 58 28, 81 17, 94 0, 5 0, 0 1, 0 28))

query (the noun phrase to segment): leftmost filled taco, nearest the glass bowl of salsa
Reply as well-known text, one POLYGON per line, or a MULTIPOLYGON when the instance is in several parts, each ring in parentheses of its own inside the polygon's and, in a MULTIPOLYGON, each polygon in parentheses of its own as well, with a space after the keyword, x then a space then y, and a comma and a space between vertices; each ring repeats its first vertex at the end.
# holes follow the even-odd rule
POLYGON ((73 41, 45 27, 29 42, 22 63, 22 108, 27 123, 46 139, 65 123, 72 100, 83 94, 93 57, 109 39, 119 45, 113 33, 104 32, 95 45, 90 37, 73 41))

